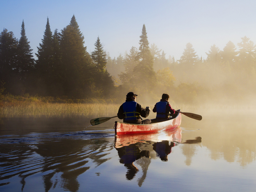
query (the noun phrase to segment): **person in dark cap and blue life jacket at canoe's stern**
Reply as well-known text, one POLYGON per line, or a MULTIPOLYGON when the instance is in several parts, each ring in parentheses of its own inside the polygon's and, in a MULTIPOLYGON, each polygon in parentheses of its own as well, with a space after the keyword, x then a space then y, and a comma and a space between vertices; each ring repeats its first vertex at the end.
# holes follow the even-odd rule
POLYGON ((117 116, 123 119, 124 123, 131 124, 150 124, 150 119, 141 120, 141 117, 146 118, 150 113, 150 107, 142 108, 139 103, 136 103, 138 95, 134 92, 129 92, 126 95, 125 102, 120 106, 117 116))

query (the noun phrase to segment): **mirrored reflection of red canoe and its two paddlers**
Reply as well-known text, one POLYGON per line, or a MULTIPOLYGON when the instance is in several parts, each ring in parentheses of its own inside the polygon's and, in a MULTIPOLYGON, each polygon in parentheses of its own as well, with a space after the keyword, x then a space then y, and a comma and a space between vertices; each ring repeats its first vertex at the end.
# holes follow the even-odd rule
POLYGON ((148 166, 152 158, 168 160, 175 143, 181 142, 181 129, 175 128, 172 131, 150 134, 117 135, 115 148, 118 152, 119 162, 127 168, 126 179, 132 180, 139 169, 134 165, 141 166, 142 177, 138 180, 141 186, 146 178, 148 166))

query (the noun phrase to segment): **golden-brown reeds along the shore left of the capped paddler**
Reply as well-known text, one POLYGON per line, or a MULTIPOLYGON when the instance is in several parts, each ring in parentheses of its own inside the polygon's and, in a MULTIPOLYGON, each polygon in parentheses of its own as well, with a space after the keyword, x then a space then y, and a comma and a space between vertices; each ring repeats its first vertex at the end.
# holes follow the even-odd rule
POLYGON ((84 104, 84 103, 29 103, 13 106, 1 106, 1 117, 102 117, 117 114, 116 104, 84 104))

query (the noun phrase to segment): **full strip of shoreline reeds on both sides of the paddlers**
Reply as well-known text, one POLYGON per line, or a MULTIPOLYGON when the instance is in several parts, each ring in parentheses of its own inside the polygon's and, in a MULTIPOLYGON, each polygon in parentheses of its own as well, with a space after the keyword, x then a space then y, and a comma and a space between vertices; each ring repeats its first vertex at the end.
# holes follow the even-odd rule
MULTIPOLYGON (((149 106, 151 110, 155 104, 141 106, 146 108, 149 106)), ((172 105, 172 104, 171 104, 172 105)), ((107 103, 44 103, 44 102, 19 102, 15 105, 0 105, 0 117, 58 117, 58 118, 96 118, 116 116, 120 104, 107 103)), ((206 113, 237 113, 237 112, 255 112, 255 105, 186 105, 173 104, 172 108, 180 109, 183 112, 198 113, 200 115, 206 113)), ((152 114, 151 114, 152 115, 152 114)), ((155 114, 154 114, 155 115, 155 114)))

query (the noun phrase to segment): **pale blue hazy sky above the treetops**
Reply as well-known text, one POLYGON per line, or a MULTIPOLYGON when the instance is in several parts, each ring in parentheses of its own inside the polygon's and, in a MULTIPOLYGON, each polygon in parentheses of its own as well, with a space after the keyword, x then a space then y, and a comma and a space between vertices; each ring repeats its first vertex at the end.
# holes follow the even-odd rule
POLYGON ((52 32, 66 27, 73 16, 92 52, 97 37, 112 58, 139 48, 143 24, 149 45, 175 60, 187 43, 206 59, 216 44, 223 50, 228 41, 247 36, 256 43, 255 0, 0 0, 0 31, 4 28, 20 38, 22 20, 33 52, 42 42, 47 17, 52 32))

